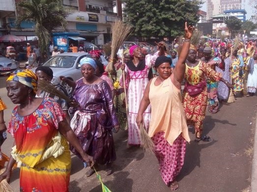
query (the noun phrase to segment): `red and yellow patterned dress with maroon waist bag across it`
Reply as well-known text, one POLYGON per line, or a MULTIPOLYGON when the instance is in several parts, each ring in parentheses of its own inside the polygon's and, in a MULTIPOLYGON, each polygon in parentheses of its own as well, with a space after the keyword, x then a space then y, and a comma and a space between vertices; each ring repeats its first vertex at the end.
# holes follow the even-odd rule
MULTIPOLYGON (((215 72, 209 65, 202 61, 193 68, 186 65, 185 79, 191 85, 197 85, 200 82, 205 81, 205 76, 213 81, 219 81, 222 77, 220 73, 215 72)), ((207 87, 204 87, 202 92, 197 96, 190 96, 187 90, 184 89, 183 105, 188 125, 195 126, 196 137, 200 138, 207 106, 207 87)))

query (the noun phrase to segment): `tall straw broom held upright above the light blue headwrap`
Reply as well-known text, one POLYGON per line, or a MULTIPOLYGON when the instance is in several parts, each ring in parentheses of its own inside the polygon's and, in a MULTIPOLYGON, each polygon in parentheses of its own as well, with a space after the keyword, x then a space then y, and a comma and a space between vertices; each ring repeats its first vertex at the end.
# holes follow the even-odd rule
POLYGON ((122 42, 128 38, 128 36, 132 32, 132 26, 123 23, 120 20, 115 20, 112 25, 112 51, 111 51, 111 59, 109 64, 106 66, 105 71, 111 73, 114 68, 114 58, 117 54, 119 47, 122 42))

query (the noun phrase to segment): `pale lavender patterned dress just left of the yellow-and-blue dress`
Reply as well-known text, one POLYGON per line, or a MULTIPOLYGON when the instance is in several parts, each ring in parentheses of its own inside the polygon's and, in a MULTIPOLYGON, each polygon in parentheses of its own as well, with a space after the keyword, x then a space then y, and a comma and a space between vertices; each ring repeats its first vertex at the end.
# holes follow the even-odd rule
MULTIPOLYGON (((225 60, 225 71, 223 71, 222 69, 216 67, 216 72, 219 72, 222 74, 222 77, 228 81, 229 83, 231 83, 231 78, 230 78, 230 58, 227 57, 225 60)), ((228 93, 229 93, 229 89, 228 89, 228 86, 219 81, 219 84, 218 84, 218 98, 219 99, 227 99, 228 98, 228 93)))

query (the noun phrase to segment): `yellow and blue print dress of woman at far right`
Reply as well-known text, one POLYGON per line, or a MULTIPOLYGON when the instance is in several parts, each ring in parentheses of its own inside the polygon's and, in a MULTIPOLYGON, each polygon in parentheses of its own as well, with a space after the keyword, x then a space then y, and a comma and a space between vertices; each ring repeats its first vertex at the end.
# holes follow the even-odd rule
POLYGON ((242 56, 238 55, 236 58, 231 60, 231 78, 233 90, 240 92, 244 89, 243 72, 240 71, 240 67, 244 66, 242 56))

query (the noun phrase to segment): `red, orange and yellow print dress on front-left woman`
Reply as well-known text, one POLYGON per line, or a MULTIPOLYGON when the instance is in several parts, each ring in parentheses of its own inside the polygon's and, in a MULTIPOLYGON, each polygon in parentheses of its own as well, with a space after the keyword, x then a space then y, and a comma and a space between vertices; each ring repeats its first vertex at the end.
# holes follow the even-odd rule
POLYGON ((52 98, 43 99, 28 116, 20 116, 19 106, 12 112, 8 132, 16 143, 16 155, 21 161, 20 192, 68 192, 71 157, 66 139, 58 134, 58 123, 65 117, 52 98), (63 153, 43 160, 44 152, 60 136, 63 153))

